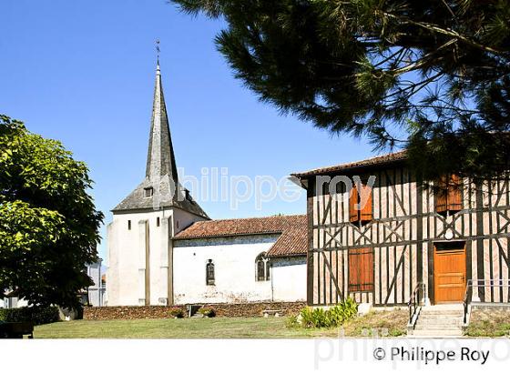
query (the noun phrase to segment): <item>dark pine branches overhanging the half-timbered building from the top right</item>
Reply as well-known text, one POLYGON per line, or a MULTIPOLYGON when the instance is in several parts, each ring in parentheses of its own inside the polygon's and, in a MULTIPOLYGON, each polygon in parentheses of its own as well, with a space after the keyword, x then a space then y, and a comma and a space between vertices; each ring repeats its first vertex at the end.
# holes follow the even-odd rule
POLYGON ((333 133, 408 149, 426 178, 508 169, 507 0, 172 0, 262 101, 333 133))

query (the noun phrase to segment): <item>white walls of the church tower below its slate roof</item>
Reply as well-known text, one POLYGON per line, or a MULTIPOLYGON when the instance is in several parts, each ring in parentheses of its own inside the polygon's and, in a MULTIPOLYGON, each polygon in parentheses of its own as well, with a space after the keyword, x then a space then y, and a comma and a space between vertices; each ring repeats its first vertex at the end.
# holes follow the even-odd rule
POLYGON ((170 238, 173 237, 173 232, 177 233, 197 220, 203 218, 178 208, 114 214, 113 221, 107 227, 107 306, 145 304, 147 270, 150 276, 150 304, 166 304, 170 276, 170 238), (129 220, 131 229, 128 229, 129 220), (148 222, 148 263, 145 221, 148 222))

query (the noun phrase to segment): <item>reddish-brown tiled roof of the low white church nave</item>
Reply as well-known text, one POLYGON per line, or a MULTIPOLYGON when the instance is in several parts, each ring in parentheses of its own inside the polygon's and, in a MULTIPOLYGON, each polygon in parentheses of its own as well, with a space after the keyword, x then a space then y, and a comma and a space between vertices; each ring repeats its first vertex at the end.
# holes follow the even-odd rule
POLYGON ((179 232, 174 239, 280 235, 268 251, 269 257, 304 256, 308 247, 306 215, 250 217, 198 221, 179 232))

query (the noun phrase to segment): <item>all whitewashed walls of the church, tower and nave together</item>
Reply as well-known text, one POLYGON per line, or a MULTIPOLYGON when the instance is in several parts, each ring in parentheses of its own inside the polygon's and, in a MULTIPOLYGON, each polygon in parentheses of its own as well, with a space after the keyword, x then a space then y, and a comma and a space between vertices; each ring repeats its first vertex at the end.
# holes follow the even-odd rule
POLYGON ((269 251, 279 235, 171 240, 193 221, 202 220, 178 208, 114 214, 107 227, 106 306, 145 304, 145 271, 150 274, 150 304, 168 302, 173 276, 176 304, 248 301, 296 301, 306 298, 306 259, 273 258, 268 281, 256 281, 255 258, 269 251), (157 218, 159 217, 159 227, 157 218), (131 220, 131 229, 128 229, 131 220), (149 260, 145 262, 148 221, 149 260), (140 224, 142 222, 142 224, 140 224), (178 227, 179 226, 179 227, 178 227), (173 247, 173 257, 170 257, 173 247), (171 268, 173 258, 173 275, 171 268), (215 285, 206 285, 206 264, 215 264, 215 285))

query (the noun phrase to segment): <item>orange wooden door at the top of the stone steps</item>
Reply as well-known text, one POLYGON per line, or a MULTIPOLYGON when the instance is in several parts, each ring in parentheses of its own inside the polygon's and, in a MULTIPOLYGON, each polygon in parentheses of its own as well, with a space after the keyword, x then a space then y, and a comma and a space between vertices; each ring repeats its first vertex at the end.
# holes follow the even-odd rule
POLYGON ((434 303, 457 303, 465 293, 465 243, 436 243, 433 250, 434 303))

